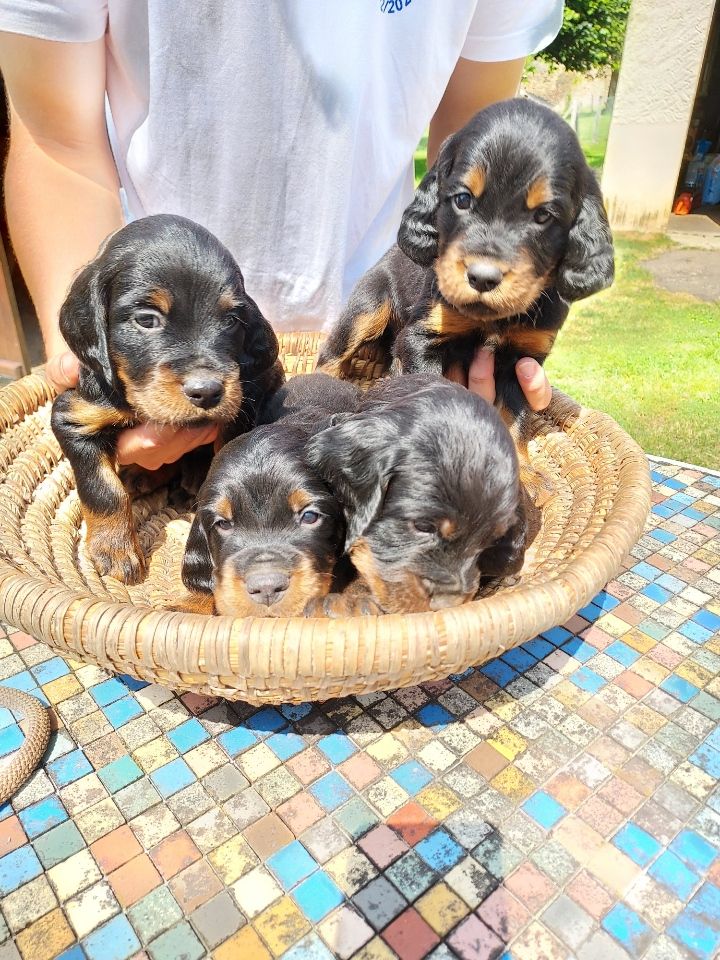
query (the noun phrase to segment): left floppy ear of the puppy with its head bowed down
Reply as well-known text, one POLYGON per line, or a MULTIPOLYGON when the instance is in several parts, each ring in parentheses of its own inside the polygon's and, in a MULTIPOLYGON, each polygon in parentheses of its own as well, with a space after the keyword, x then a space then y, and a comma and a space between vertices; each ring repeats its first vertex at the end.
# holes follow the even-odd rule
POLYGON ((305 448, 307 462, 343 505, 346 549, 380 512, 398 442, 397 427, 389 417, 361 414, 316 434, 305 448))

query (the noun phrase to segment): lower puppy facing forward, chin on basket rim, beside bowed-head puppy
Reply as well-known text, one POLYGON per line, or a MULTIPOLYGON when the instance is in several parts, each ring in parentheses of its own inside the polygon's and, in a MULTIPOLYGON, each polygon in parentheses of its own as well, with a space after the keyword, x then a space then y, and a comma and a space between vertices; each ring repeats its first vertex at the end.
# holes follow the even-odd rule
MULTIPOLYGON (((200 489, 183 559, 184 609, 244 617, 303 613, 327 595, 345 543, 342 506, 305 447, 359 391, 322 374, 270 400, 272 425, 228 443, 200 489)), ((337 589, 336 581, 336 589, 337 589)))

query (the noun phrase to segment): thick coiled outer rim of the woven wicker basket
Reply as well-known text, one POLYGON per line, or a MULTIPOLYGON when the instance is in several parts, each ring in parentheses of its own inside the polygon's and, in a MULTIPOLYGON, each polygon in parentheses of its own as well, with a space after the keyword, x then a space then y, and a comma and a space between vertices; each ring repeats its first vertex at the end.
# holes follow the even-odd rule
MULTIPOLYGON (((51 388, 37 374, 4 388, 0 391, 0 430, 17 423, 18 416, 40 409, 52 396, 51 388), (28 404, 27 394, 34 397, 34 406, 28 404)), ((547 422, 562 430, 571 421, 573 433, 582 434, 587 421, 592 419, 592 432, 616 444, 619 488, 628 486, 632 494, 613 501, 594 539, 548 581, 519 584, 460 607, 422 613, 334 620, 231 618, 98 599, 90 593, 23 574, 0 558, 0 615, 69 656, 111 664, 113 669, 122 663, 126 672, 135 670, 138 675, 156 676, 161 670, 179 686, 183 675, 198 673, 207 677, 262 677, 272 686, 279 663, 286 678, 309 673, 332 680, 348 676, 345 666, 349 667, 353 658, 358 663, 362 661, 361 667, 364 664, 368 673, 384 673, 386 688, 392 686, 393 676, 409 660, 422 661, 434 669, 442 665, 447 676, 457 672, 455 667, 459 664, 478 662, 473 659, 477 648, 474 635, 483 630, 490 633, 491 656, 495 656, 501 652, 501 646, 516 646, 564 623, 617 573, 644 527, 651 503, 645 454, 609 415, 580 407, 559 391, 554 391, 553 398, 561 406, 564 403, 564 414, 562 421, 548 417, 547 422), (523 621, 529 606, 535 610, 528 633, 528 622, 523 621), (102 658, 90 649, 90 641, 97 631, 109 631, 111 624, 115 639, 112 649, 105 649, 106 656, 102 658), (504 627, 502 640, 499 626, 504 627), (185 634, 183 652, 178 656, 181 633, 185 634), (358 653, 360 633, 368 651, 364 654, 358 653), (452 662, 443 659, 448 637, 459 641, 452 662)), ((188 689, 196 686, 195 681, 189 682, 188 689)))

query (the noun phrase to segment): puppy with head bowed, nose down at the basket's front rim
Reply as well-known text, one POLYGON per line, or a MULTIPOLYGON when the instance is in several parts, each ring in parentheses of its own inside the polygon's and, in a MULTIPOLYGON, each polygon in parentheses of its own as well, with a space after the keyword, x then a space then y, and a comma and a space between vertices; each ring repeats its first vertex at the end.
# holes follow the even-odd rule
POLYGON ((306 457, 342 502, 345 549, 386 613, 455 606, 481 577, 521 568, 517 454, 497 411, 463 387, 386 380, 312 437, 306 457))

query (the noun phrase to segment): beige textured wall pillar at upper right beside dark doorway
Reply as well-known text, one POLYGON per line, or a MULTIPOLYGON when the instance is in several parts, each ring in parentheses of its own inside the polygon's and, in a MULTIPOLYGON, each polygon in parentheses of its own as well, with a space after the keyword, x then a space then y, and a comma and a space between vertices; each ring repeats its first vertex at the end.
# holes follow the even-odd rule
POLYGON ((619 230, 664 230, 715 0, 633 0, 603 169, 619 230))

